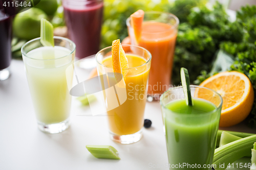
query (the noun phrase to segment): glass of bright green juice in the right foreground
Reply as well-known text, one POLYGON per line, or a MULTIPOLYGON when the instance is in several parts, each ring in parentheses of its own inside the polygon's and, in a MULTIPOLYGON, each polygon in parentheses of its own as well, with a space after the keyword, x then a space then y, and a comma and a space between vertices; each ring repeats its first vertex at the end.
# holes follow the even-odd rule
POLYGON ((190 91, 193 106, 187 106, 182 86, 160 98, 169 169, 211 169, 214 158, 221 95, 194 85, 190 91))

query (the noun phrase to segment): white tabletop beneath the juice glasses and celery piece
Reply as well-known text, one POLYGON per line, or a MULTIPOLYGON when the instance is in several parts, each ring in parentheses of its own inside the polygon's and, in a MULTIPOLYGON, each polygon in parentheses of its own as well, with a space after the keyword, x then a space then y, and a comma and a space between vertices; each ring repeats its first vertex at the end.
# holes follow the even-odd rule
MULTIPOLYGON (((133 144, 119 144, 109 137, 106 116, 79 116, 87 107, 72 99, 71 126, 59 134, 37 128, 23 61, 12 60, 12 75, 0 82, 0 169, 168 169, 153 168, 168 162, 160 104, 147 103, 150 129, 133 144), (87 144, 112 145, 121 160, 97 159, 87 144), (150 166, 152 165, 152 167, 150 166)), ((226 130, 256 133, 244 123, 226 130)))

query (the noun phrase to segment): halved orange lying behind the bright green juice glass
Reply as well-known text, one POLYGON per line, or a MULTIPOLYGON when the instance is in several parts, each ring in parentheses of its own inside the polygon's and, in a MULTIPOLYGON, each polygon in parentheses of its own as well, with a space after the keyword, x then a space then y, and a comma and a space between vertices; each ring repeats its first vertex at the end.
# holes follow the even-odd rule
MULTIPOLYGON (((250 80, 241 72, 220 72, 203 81, 200 86, 215 90, 222 96, 220 127, 239 124, 250 113, 254 92, 250 80)), ((195 97, 207 100, 209 94, 206 94, 206 90, 200 89, 196 90, 195 97)))

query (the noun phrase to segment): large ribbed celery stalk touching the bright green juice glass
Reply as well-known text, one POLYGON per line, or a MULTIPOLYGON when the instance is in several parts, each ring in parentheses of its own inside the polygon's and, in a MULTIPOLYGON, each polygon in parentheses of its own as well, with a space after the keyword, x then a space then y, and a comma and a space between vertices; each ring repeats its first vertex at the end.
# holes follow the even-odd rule
POLYGON ((231 143, 225 144, 215 150, 214 163, 216 170, 225 170, 229 163, 232 163, 246 155, 252 149, 252 144, 256 141, 256 135, 245 137, 231 143), (220 166, 220 164, 224 164, 220 166))

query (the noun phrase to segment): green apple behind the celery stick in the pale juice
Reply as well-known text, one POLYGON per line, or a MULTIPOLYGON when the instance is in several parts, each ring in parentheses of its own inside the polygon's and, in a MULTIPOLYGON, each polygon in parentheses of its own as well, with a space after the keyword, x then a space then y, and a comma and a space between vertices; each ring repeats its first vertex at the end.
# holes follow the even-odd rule
POLYGON ((13 32, 18 38, 33 39, 40 37, 40 20, 46 18, 44 11, 38 8, 31 8, 18 13, 13 20, 13 32))

